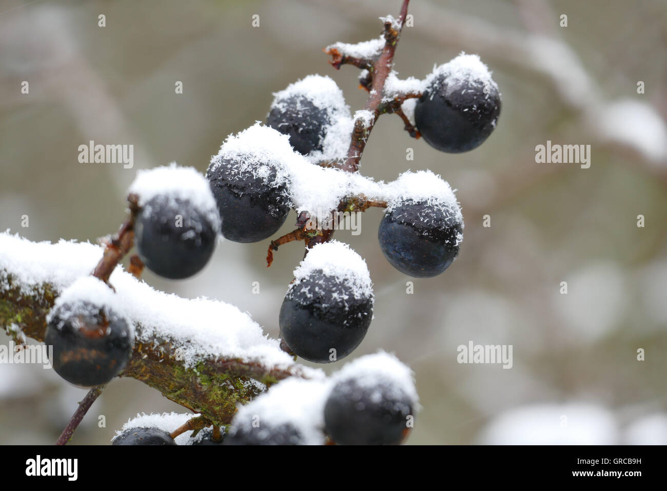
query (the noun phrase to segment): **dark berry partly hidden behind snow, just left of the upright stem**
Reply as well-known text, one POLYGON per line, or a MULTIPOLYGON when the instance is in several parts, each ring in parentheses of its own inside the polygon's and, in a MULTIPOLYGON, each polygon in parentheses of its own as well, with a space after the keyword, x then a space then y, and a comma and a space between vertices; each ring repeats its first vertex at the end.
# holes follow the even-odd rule
POLYGON ((289 144, 302 155, 322 150, 329 114, 305 95, 276 98, 266 119, 267 126, 289 136, 289 144))

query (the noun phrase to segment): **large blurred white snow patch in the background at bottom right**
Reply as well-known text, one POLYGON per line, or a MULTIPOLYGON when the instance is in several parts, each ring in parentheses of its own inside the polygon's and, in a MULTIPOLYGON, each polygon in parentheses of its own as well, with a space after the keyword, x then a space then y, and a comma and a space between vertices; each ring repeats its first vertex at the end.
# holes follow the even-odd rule
POLYGON ((584 403, 518 407, 482 431, 486 445, 612 445, 618 430, 612 414, 584 403))

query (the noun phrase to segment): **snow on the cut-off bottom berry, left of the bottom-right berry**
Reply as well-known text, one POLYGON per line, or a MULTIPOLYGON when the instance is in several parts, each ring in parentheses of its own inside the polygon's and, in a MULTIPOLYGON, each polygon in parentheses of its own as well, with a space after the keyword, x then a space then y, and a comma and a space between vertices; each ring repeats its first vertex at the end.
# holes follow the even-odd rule
POLYGON ((285 379, 240 406, 231 424, 267 432, 289 424, 299 432, 304 445, 321 445, 324 443, 324 404, 330 391, 327 379, 285 379))

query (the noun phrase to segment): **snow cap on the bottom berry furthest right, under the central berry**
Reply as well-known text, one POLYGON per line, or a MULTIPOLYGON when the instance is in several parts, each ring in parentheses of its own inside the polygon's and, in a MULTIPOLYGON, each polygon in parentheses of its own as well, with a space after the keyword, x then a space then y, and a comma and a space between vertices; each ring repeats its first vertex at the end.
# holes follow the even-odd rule
MULTIPOLYGON (((397 397, 408 397, 413 410, 418 410, 419 396, 415 387, 414 373, 396 356, 378 351, 372 355, 364 355, 346 363, 346 365, 331 375, 331 381, 354 379, 360 387, 376 390, 381 397, 388 389, 397 397)), ((373 400, 374 395, 372 394, 373 400)))

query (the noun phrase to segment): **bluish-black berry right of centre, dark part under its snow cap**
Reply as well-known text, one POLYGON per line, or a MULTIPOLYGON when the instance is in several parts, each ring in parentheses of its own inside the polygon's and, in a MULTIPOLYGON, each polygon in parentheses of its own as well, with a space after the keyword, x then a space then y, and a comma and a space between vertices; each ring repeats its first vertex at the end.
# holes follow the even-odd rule
POLYGON ((388 210, 378 230, 384 257, 417 278, 440 275, 458 255, 463 220, 453 208, 408 200, 388 210))

